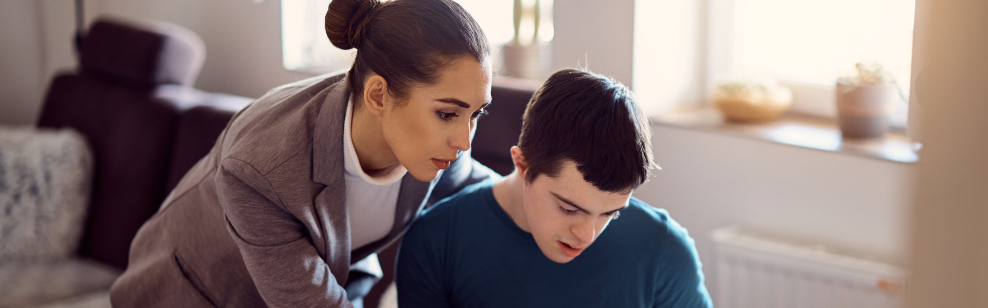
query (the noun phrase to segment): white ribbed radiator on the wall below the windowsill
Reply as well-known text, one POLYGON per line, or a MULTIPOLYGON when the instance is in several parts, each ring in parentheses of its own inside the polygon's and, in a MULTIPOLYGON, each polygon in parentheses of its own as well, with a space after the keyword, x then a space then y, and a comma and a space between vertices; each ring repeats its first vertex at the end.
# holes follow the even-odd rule
POLYGON ((742 228, 712 232, 718 308, 903 307, 894 262, 742 228))

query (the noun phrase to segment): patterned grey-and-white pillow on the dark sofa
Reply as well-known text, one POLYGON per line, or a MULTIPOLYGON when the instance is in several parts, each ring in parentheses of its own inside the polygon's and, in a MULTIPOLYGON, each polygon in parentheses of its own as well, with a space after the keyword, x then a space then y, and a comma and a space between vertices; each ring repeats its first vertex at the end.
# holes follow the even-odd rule
POLYGON ((75 254, 92 169, 74 130, 0 126, 0 262, 75 254))

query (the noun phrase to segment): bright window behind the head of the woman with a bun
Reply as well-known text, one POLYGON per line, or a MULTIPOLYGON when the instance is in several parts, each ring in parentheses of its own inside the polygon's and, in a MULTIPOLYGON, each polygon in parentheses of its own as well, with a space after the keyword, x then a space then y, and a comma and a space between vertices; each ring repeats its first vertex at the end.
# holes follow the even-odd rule
MULTIPOLYGON (((492 45, 511 40, 514 36, 513 1, 456 2, 480 24, 492 45)), ((323 74, 349 69, 353 64, 356 49, 340 50, 326 39, 323 24, 329 3, 330 0, 282 1, 282 57, 286 69, 323 74)))

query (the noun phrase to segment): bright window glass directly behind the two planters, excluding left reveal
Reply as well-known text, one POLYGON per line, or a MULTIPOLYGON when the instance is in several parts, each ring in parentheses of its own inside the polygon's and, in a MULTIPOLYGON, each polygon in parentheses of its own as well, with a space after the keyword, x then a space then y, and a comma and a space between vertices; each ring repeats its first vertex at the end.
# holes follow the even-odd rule
MULTIPOLYGON (((726 75, 771 76, 792 90, 794 112, 836 116, 834 81, 873 61, 909 90, 915 0, 710 1, 706 89, 726 75)), ((892 125, 904 127, 907 110, 899 102, 892 125)))

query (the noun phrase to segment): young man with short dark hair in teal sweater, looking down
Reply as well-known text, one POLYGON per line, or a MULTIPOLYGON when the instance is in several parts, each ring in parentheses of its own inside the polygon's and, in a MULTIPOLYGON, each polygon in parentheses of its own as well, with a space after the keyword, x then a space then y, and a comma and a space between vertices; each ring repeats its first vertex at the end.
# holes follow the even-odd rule
POLYGON ((710 307, 687 230, 631 197, 655 167, 650 138, 626 87, 554 73, 523 117, 515 172, 437 203, 405 235, 399 306, 710 307))

